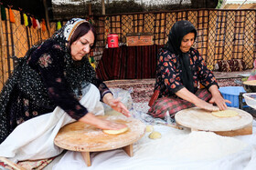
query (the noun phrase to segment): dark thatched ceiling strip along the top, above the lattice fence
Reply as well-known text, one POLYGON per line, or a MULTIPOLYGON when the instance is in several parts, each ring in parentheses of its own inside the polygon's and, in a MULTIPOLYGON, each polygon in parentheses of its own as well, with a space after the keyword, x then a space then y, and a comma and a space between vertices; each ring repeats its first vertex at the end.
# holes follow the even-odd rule
MULTIPOLYGON (((79 1, 79 0, 78 0, 79 1)), ((69 20, 72 17, 86 17, 89 15, 90 1, 80 0, 80 5, 60 4, 52 5, 53 20, 69 20)), ((146 12, 146 11, 160 11, 160 10, 176 10, 176 9, 191 9, 191 8, 215 8, 218 5, 218 0, 191 0, 191 4, 183 5, 180 3, 173 5, 173 3, 166 5, 141 5, 135 3, 133 0, 127 1, 112 1, 112 3, 105 4, 106 15, 146 12)), ((92 15, 101 15, 101 1, 91 1, 92 15)))

